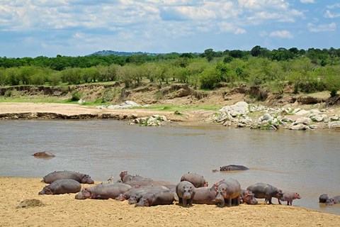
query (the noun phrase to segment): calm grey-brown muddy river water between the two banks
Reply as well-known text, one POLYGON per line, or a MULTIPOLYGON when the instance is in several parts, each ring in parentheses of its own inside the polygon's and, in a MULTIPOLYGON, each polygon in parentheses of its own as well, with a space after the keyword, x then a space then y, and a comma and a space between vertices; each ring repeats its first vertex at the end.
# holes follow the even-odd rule
MULTIPOLYGON (((196 172, 211 184, 237 179, 242 188, 265 182, 298 192, 294 206, 339 214, 320 206, 320 194, 340 195, 339 131, 256 131, 222 126, 128 126, 122 121, 0 121, 0 175, 43 177, 55 170, 89 173, 106 181, 128 170, 179 182, 196 172), (49 151, 52 159, 33 153, 49 151), (222 165, 243 172, 212 172, 222 165)), ((273 199, 277 203, 276 199, 273 199)))

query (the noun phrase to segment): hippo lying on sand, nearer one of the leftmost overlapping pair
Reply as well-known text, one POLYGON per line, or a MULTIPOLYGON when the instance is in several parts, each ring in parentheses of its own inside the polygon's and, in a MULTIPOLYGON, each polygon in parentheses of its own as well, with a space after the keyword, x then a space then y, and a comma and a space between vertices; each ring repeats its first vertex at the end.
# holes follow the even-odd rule
POLYGON ((44 187, 38 194, 77 193, 80 189, 81 184, 74 179, 57 179, 44 187))

